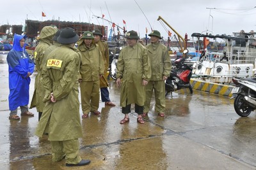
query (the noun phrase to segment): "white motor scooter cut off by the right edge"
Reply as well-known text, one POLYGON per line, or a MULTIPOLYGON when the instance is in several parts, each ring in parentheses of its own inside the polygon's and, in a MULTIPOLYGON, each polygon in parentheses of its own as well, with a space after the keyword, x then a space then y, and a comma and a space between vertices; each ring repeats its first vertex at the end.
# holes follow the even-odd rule
POLYGON ((234 109, 240 117, 248 117, 256 109, 256 78, 232 78, 236 85, 232 89, 234 109))

